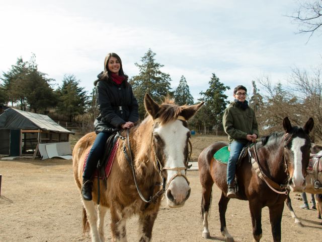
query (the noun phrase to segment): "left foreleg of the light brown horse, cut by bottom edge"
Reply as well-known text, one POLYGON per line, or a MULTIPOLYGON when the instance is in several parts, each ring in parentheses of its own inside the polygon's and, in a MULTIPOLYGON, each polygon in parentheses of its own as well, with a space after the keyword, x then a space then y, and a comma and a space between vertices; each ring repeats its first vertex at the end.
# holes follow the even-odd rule
POLYGON ((112 241, 127 242, 126 240, 126 218, 116 209, 111 209, 111 233, 112 241))

